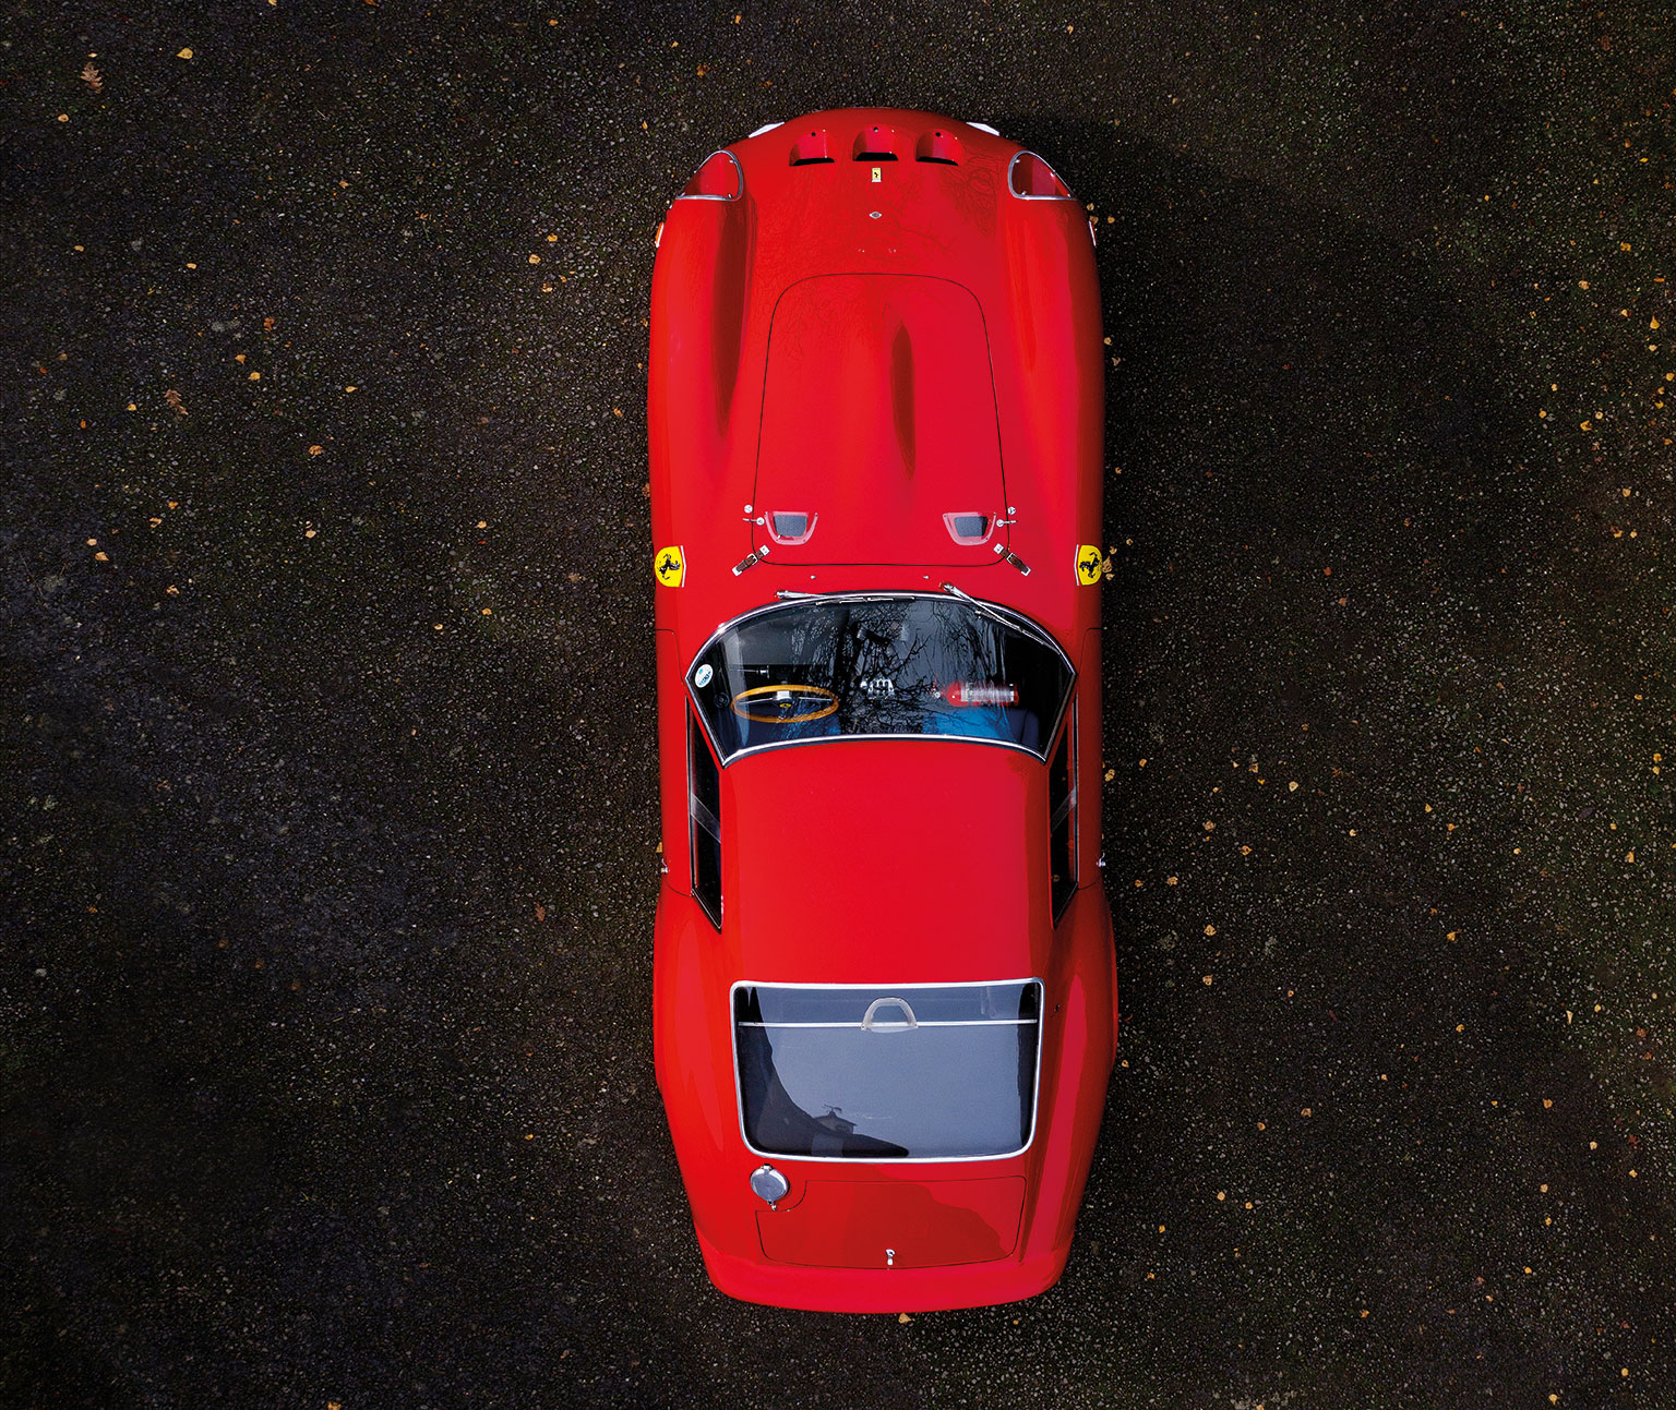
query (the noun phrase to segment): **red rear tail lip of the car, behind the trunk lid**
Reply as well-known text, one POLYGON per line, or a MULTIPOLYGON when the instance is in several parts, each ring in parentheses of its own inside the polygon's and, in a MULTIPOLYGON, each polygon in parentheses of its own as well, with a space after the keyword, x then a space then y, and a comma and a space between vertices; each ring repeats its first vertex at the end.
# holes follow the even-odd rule
POLYGON ((737 1258, 699 1234, 711 1281, 729 1298, 818 1313, 923 1313, 987 1308, 1046 1293, 1069 1248, 994 1263, 942 1268, 804 1268, 791 1263, 737 1258))

